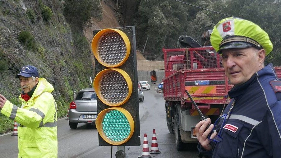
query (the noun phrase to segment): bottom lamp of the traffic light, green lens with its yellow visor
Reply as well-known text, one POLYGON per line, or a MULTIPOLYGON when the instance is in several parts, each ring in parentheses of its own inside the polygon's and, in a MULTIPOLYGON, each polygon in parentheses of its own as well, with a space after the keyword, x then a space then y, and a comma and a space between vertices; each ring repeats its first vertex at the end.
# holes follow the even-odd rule
POLYGON ((112 145, 120 145, 132 137, 135 124, 127 110, 112 107, 99 113, 96 128, 103 140, 112 145))

